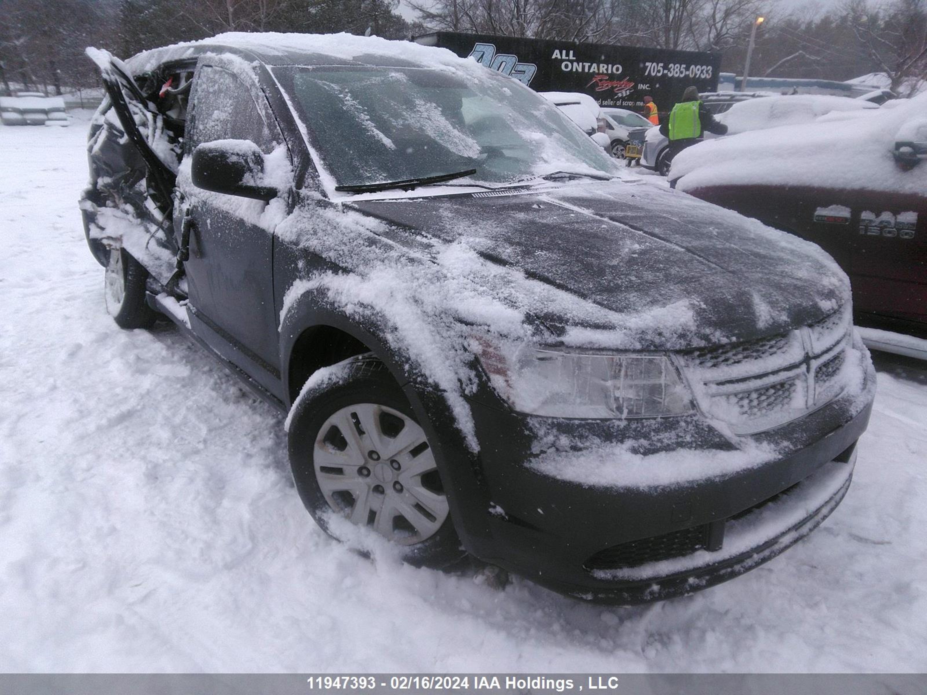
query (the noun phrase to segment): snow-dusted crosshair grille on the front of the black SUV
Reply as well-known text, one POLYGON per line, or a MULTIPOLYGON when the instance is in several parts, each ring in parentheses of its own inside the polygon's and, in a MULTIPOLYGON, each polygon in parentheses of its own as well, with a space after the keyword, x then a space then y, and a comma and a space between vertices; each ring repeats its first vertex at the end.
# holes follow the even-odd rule
POLYGON ((746 435, 791 422, 836 398, 852 328, 848 308, 781 335, 679 353, 709 417, 746 435))

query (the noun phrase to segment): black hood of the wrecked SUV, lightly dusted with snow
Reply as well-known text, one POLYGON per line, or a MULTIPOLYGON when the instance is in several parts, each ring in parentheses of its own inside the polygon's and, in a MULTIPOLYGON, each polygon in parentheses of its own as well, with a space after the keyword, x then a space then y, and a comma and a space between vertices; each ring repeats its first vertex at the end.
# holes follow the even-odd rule
POLYGON ((571 329, 616 326, 635 335, 635 347, 774 335, 819 320, 849 296, 844 273, 819 246, 649 183, 483 195, 351 207, 410 239, 464 244, 578 297, 593 311, 552 307, 543 293, 525 310, 571 329))

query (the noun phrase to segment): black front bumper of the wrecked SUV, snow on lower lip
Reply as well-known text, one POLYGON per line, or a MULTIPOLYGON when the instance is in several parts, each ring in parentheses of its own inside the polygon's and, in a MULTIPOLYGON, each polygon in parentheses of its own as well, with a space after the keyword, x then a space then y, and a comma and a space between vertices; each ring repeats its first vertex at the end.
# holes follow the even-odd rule
MULTIPOLYGON (((787 455, 652 486, 540 473, 530 445, 514 435, 525 428, 515 422, 523 416, 474 403, 489 503, 486 532, 462 533, 464 544, 482 560, 584 600, 633 604, 726 581, 788 549, 843 499, 873 385, 870 366, 864 404, 838 399, 769 435, 804 443, 787 455)), ((635 426, 625 425, 622 436, 641 436, 635 426)), ((705 457, 717 444, 705 445, 705 457)))

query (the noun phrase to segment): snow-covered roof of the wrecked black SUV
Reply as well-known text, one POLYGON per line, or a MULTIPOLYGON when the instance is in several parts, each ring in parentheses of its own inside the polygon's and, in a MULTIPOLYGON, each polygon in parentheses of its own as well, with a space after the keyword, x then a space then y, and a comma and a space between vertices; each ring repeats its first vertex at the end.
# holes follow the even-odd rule
POLYGON ((126 61, 133 72, 207 53, 233 54, 266 65, 374 65, 395 68, 477 67, 444 48, 349 33, 226 32, 210 39, 145 51, 126 61))

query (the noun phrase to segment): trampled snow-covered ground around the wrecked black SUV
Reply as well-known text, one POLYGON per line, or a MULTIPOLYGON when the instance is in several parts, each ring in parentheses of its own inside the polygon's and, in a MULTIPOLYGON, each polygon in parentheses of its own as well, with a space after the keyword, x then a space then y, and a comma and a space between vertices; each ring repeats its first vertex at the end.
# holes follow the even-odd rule
POLYGON ((303 510, 282 417, 170 327, 108 317, 86 118, 0 126, 0 670, 927 670, 927 369, 878 358, 843 505, 695 596, 366 561, 303 510))

